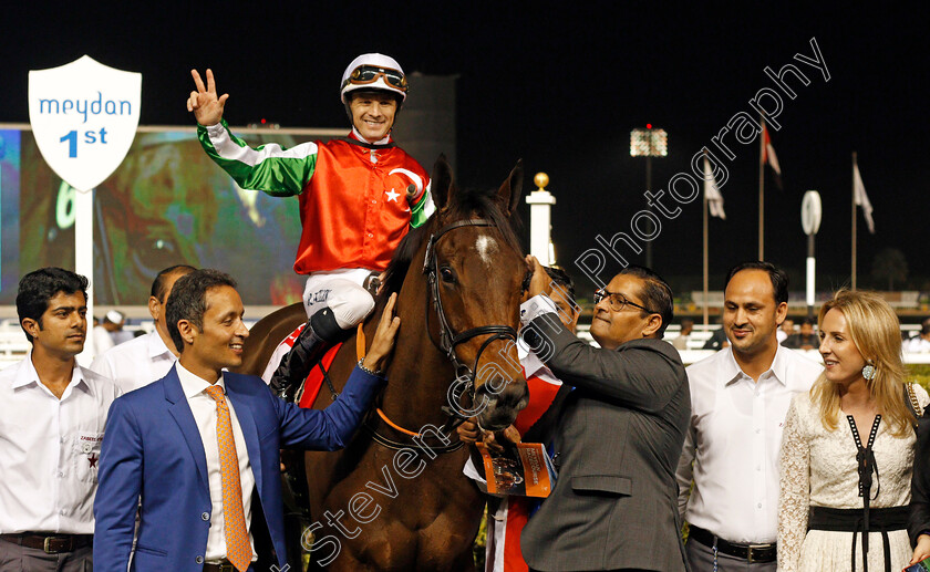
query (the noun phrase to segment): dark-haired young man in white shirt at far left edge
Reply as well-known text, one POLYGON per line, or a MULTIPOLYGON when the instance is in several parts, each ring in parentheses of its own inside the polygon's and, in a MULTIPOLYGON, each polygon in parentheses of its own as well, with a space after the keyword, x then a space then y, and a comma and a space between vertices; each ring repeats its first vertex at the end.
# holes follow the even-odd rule
POLYGON ((74 360, 87 334, 86 289, 86 278, 60 268, 19 284, 32 351, 0 372, 0 570, 93 566, 97 459, 122 392, 74 360))

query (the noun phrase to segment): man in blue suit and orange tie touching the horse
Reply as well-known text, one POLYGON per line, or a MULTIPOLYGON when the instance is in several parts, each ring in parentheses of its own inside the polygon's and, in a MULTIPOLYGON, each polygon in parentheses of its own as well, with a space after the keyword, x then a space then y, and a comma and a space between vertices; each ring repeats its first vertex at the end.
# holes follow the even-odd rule
POLYGON ((312 410, 275 397, 259 377, 224 371, 241 363, 249 335, 235 285, 215 270, 178 279, 167 303, 178 363, 110 409, 94 503, 96 570, 127 569, 137 511, 133 570, 285 569, 279 449, 342 448, 384 384, 379 371, 400 325, 394 297, 345 389, 312 410))

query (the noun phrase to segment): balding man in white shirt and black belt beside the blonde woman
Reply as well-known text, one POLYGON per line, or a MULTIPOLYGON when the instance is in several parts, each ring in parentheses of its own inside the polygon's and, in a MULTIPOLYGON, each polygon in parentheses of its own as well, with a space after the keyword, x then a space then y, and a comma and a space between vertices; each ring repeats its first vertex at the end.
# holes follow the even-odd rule
POLYGON ((792 396, 822 371, 777 342, 787 301, 782 270, 737 264, 724 293, 731 345, 688 367, 691 425, 676 476, 693 572, 776 570, 782 428, 792 396))

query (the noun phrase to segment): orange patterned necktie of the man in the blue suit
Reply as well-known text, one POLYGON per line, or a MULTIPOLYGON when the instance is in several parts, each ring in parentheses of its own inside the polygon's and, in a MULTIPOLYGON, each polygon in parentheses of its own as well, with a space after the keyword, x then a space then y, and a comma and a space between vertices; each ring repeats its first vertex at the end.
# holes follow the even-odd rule
POLYGON ((239 456, 232 438, 232 423, 223 387, 207 387, 216 399, 216 444, 219 446, 219 472, 223 477, 223 516, 226 519, 226 558, 239 572, 251 564, 251 543, 242 510, 242 485, 239 482, 239 456))

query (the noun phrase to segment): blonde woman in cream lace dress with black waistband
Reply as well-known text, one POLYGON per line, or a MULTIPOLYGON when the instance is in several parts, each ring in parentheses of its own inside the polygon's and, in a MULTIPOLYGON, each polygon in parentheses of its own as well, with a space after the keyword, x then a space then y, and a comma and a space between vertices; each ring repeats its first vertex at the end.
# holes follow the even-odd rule
POLYGON ((898 318, 877 294, 840 290, 818 324, 824 373, 785 420, 778 570, 898 572, 912 555, 913 412, 930 397, 905 385, 898 318))

